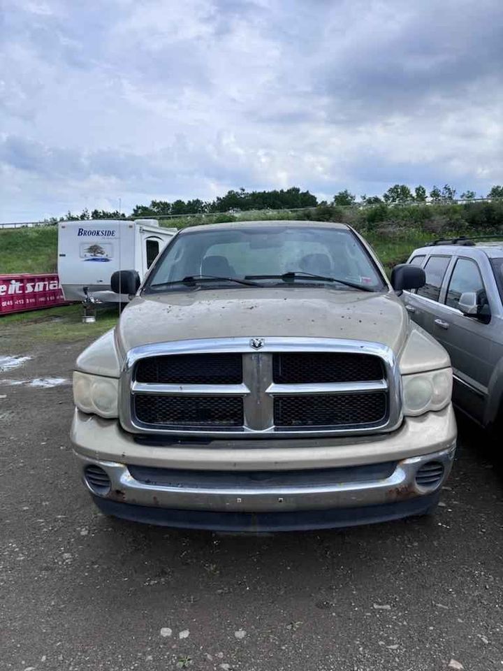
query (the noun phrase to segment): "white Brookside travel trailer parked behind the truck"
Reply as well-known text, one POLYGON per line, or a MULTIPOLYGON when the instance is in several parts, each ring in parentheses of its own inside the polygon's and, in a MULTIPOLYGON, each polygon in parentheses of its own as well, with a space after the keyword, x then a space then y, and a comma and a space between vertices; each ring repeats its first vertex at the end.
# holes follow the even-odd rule
POLYGON ((83 301, 86 291, 104 303, 127 300, 110 290, 112 273, 137 270, 143 280, 176 231, 156 219, 60 222, 58 274, 66 300, 83 301))

